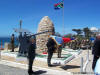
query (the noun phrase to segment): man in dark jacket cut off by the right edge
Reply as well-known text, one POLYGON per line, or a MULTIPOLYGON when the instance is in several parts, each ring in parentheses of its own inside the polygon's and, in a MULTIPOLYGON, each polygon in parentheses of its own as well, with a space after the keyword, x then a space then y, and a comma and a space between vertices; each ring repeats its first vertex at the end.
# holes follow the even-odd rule
POLYGON ((93 45, 92 54, 94 55, 92 69, 95 69, 96 62, 100 57, 100 35, 97 35, 96 40, 93 45))

